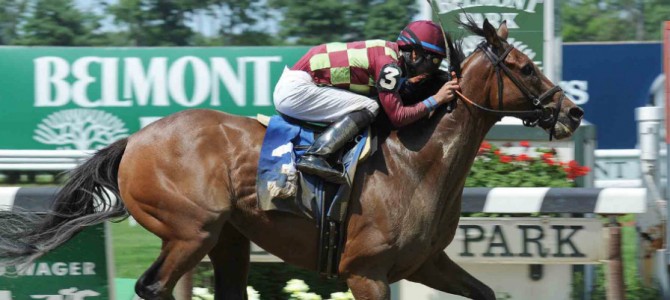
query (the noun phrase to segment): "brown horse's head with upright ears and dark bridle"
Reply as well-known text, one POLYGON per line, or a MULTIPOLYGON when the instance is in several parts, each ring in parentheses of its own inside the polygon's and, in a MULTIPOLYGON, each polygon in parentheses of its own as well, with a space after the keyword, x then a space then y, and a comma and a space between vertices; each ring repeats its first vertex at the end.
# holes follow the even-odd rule
MULTIPOLYGON (((483 28, 472 19, 460 24, 484 37, 462 65, 461 86, 465 94, 471 95, 471 104, 499 117, 518 117, 525 125, 540 126, 558 139, 571 136, 581 123, 583 110, 528 56, 507 42, 506 23, 498 30, 488 20, 483 28)), ((449 44, 453 49, 453 43, 449 44)))

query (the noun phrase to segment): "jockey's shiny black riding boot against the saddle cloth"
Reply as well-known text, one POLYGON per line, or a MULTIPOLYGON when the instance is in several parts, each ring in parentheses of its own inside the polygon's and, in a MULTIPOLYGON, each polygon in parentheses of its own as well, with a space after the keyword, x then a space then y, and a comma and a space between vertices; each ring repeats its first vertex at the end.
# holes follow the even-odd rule
POLYGON ((333 169, 326 159, 354 138, 359 131, 370 125, 374 117, 371 112, 364 109, 349 113, 330 124, 298 160, 296 163, 298 170, 330 182, 345 183, 343 173, 333 169))

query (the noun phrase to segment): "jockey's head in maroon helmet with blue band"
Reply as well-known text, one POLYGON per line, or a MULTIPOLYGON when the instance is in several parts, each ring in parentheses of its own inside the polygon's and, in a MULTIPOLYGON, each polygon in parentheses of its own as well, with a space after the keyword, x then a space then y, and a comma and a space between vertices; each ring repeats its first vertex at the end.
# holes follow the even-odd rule
POLYGON ((397 43, 409 77, 437 71, 447 55, 442 28, 432 21, 409 23, 400 32, 397 43))

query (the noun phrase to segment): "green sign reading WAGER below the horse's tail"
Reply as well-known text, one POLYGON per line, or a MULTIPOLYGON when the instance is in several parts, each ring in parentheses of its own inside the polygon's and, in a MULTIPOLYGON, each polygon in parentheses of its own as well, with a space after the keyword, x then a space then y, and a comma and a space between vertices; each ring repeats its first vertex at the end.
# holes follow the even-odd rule
POLYGON ((7 276, 0 268, 0 300, 112 299, 105 225, 87 228, 62 247, 7 276))

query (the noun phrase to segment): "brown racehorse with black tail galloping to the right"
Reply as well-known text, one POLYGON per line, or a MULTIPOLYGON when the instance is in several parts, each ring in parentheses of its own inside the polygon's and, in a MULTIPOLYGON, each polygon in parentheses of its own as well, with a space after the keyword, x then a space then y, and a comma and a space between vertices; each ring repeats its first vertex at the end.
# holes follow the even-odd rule
MULTIPOLYGON (((498 30, 488 21, 463 26, 484 38, 467 58, 448 39, 463 101, 401 130, 378 121, 378 151, 356 172, 338 270, 356 299, 389 299, 389 284, 401 279, 495 299, 444 252, 479 146, 502 115, 559 139, 581 122, 583 111, 506 42, 504 23, 498 30)), ((433 78, 423 96, 445 81, 433 78)), ((287 263, 316 269, 313 221, 258 208, 255 175, 264 132, 256 120, 214 110, 154 122, 76 168, 51 214, 0 215, 0 257, 30 261, 85 226, 129 214, 162 240, 135 287, 144 299, 173 299, 177 280, 205 255, 215 269, 216 299, 246 299, 250 241, 287 263)))

